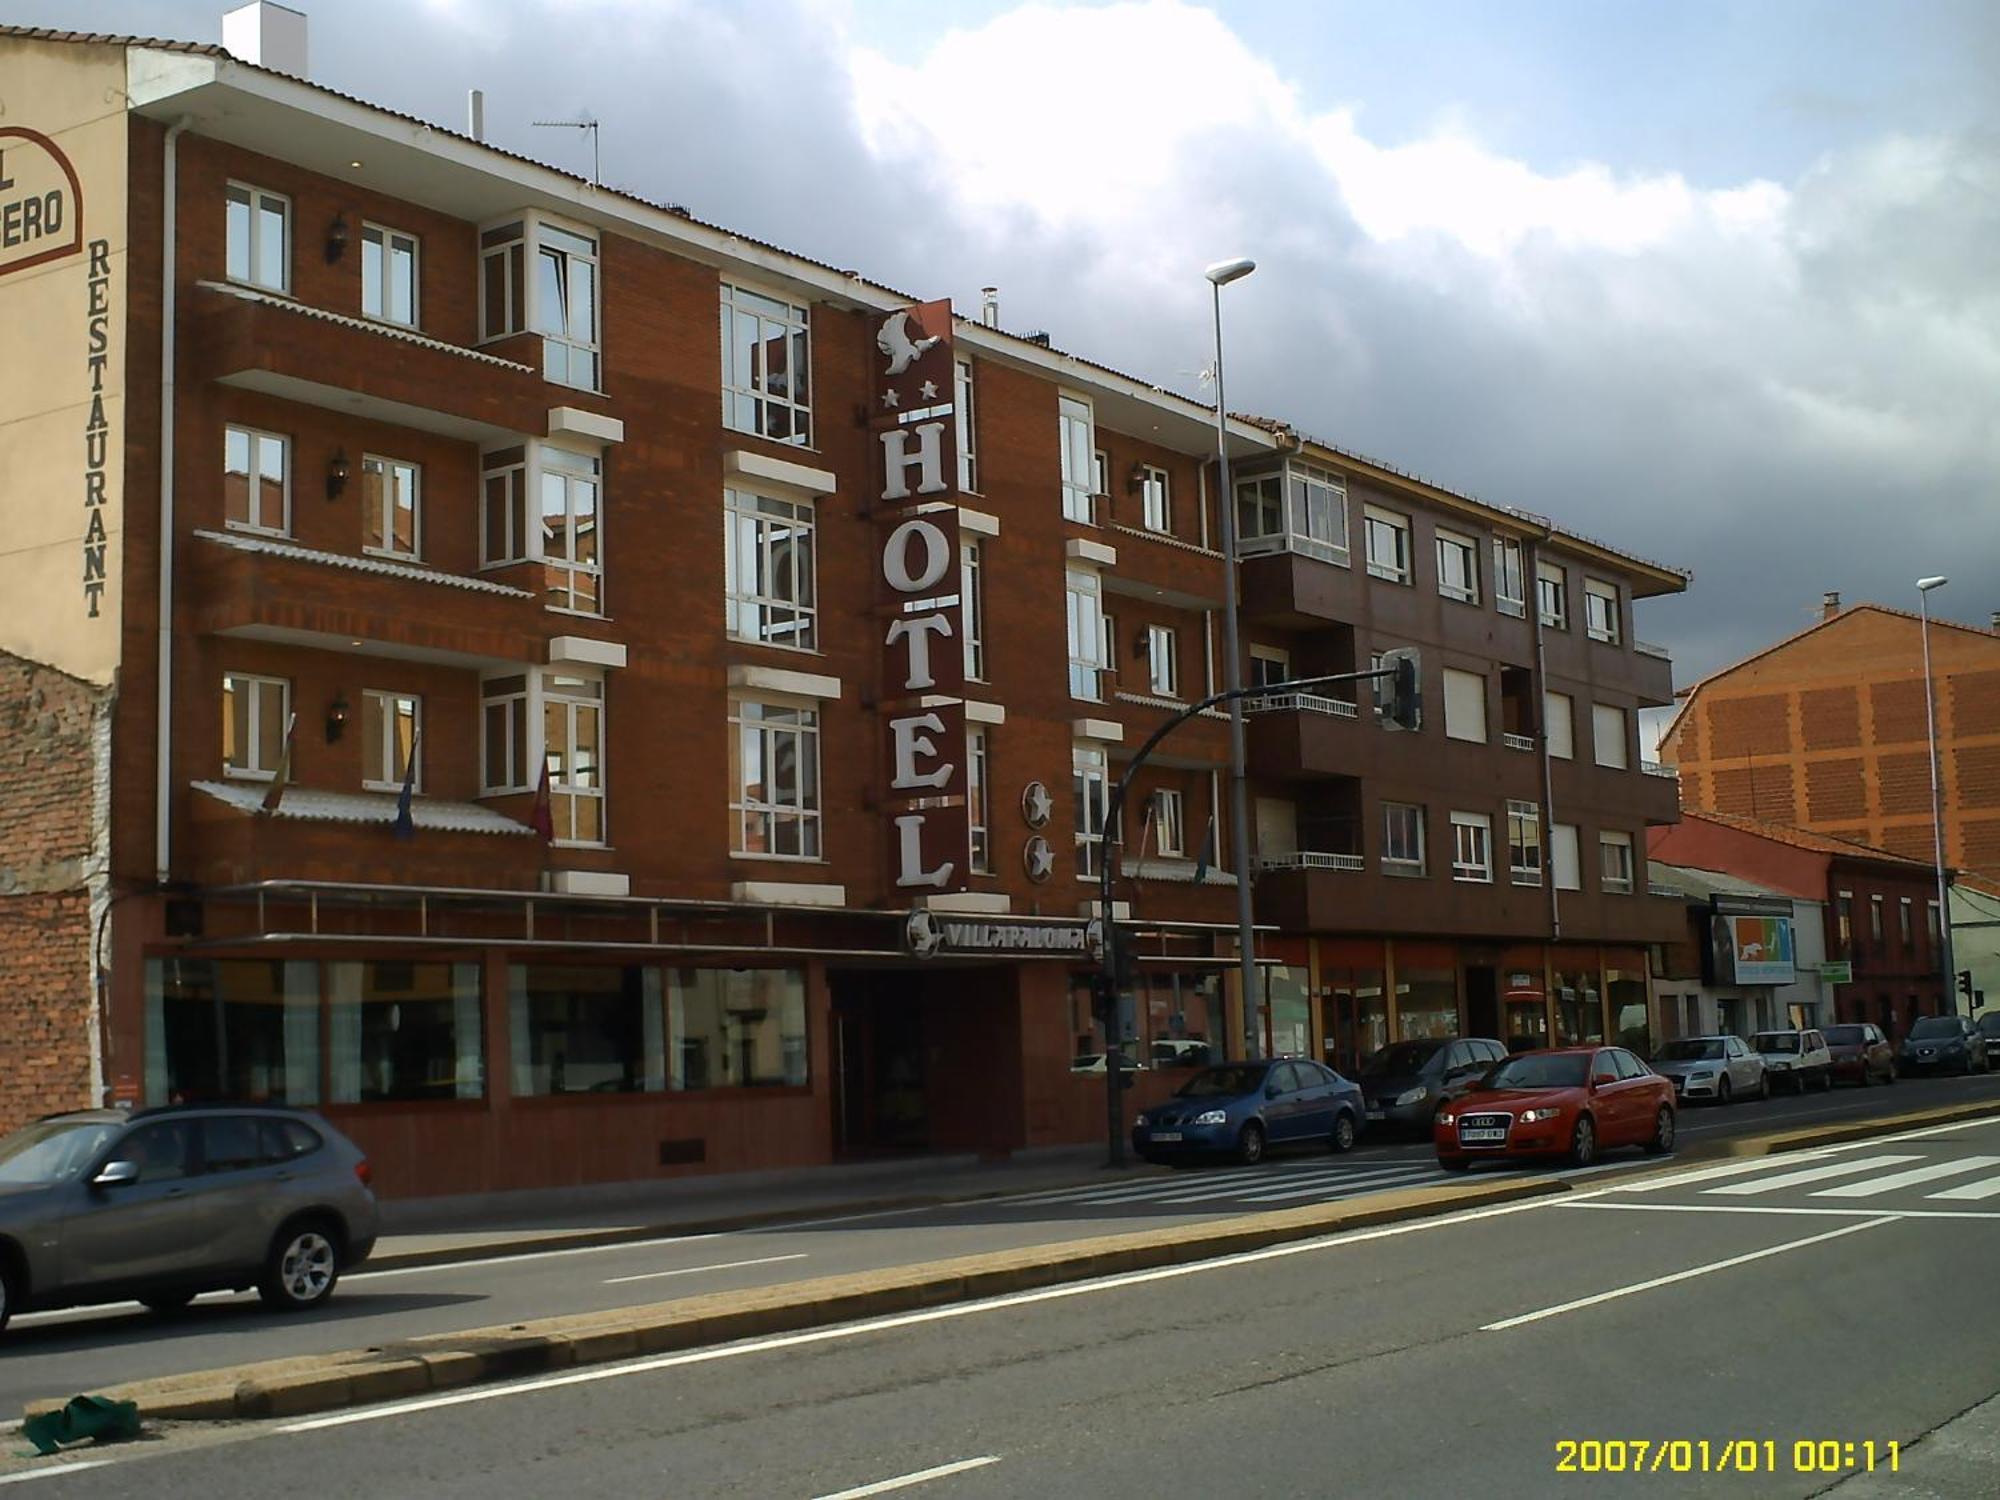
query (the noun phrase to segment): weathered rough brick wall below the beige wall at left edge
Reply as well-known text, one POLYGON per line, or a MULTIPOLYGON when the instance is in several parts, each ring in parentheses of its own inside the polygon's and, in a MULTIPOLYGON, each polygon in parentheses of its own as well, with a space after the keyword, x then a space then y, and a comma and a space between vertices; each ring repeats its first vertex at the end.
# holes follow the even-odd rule
POLYGON ((0 654, 0 1130, 94 1102, 90 878, 104 700, 0 654))

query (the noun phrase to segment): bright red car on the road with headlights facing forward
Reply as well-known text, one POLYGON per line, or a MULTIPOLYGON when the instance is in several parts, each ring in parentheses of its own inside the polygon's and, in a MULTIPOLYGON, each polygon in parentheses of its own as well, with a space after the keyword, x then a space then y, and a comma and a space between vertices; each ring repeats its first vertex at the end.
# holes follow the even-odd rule
POLYGON ((1590 1166, 1612 1146, 1674 1150, 1674 1084, 1622 1046, 1516 1052, 1438 1110, 1438 1164, 1566 1156, 1590 1166))

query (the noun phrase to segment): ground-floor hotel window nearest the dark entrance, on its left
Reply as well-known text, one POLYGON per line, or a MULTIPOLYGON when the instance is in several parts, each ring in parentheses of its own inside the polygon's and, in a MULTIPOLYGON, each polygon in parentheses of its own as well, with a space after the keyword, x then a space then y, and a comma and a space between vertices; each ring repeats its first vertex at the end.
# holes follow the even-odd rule
POLYGON ((676 968, 668 976, 670 1088, 802 1088, 806 972, 676 968))

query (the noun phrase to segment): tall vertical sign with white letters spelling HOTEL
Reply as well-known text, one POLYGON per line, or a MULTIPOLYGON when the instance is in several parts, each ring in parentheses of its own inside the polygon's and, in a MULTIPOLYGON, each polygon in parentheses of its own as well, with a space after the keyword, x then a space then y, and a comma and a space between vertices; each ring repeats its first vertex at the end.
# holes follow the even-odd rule
POLYGON ((952 304, 888 314, 876 348, 890 876, 922 896, 964 890, 972 866, 952 304))

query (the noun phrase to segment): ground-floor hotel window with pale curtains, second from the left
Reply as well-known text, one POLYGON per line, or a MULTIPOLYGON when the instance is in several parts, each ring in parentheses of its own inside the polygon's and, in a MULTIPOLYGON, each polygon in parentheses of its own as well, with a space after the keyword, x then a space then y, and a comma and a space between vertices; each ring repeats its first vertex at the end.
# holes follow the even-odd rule
POLYGON ((478 964, 328 964, 326 992, 334 1104, 486 1094, 478 964))

